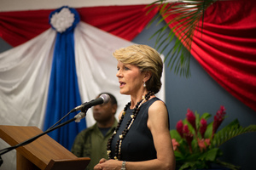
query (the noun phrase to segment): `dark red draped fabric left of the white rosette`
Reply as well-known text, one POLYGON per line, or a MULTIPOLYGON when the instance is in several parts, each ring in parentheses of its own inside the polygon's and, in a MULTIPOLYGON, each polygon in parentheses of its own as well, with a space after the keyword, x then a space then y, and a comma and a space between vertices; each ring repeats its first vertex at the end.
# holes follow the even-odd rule
POLYGON ((15 11, 0 13, 0 37, 13 47, 38 36, 50 26, 51 10, 15 11))

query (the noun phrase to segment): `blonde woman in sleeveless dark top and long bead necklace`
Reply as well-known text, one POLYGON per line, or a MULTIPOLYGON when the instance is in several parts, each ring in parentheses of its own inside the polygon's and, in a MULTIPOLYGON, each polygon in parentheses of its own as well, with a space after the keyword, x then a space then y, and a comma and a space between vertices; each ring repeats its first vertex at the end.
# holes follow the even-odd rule
POLYGON ((119 113, 119 123, 108 140, 109 160, 95 170, 175 169, 166 105, 154 96, 161 87, 163 62, 147 45, 131 45, 113 53, 118 60, 120 94, 131 102, 119 113))

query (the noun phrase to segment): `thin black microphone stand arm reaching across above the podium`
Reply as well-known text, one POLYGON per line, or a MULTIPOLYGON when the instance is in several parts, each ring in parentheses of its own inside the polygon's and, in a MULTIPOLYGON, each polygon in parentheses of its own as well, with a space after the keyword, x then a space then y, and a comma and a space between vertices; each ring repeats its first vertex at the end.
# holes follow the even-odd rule
POLYGON ((9 152, 10 150, 15 150, 16 148, 20 147, 20 146, 23 146, 23 145, 26 145, 26 144, 30 144, 32 143, 32 141, 38 139, 39 137, 43 136, 44 134, 46 133, 50 133, 52 131, 54 131, 55 129, 59 128, 59 127, 63 127, 64 125, 70 123, 70 122, 80 122, 81 119, 83 119, 85 116, 86 116, 86 109, 83 108, 81 110, 81 112, 79 112, 79 114, 77 114, 76 116, 74 116, 72 119, 66 121, 66 122, 62 122, 61 124, 59 124, 58 126, 55 126, 55 127, 51 127, 49 128, 48 130, 46 130, 45 132, 43 133, 39 133, 38 135, 32 137, 31 139, 27 139, 25 140, 24 142, 21 142, 20 144, 16 144, 15 146, 11 146, 11 147, 8 147, 8 148, 5 148, 3 150, 0 150, 0 156, 2 156, 3 154, 9 152), (83 112, 82 112, 83 111, 83 112))

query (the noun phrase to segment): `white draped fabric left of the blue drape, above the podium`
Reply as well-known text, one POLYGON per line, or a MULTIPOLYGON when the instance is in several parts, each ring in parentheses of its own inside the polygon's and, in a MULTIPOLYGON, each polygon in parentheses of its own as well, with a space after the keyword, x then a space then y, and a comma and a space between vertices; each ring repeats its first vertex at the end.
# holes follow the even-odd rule
POLYGON ((41 127, 55 31, 0 54, 0 124, 41 127))

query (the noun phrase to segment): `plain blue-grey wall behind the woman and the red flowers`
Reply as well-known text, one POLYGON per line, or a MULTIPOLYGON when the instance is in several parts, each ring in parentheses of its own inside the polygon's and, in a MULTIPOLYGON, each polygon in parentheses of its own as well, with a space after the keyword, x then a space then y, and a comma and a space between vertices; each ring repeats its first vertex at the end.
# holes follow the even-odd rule
MULTIPOLYGON (((161 24, 160 26, 162 26, 161 24)), ((152 26, 143 30, 132 42, 148 44, 154 47, 154 38, 149 40, 155 31, 160 28, 152 26)), ((0 39, 0 53, 12 48, 8 43, 0 39)), ((166 54, 166 52, 164 53, 166 54)), ((169 71, 166 65, 166 105, 170 113, 171 128, 175 128, 177 121, 184 119, 187 109, 198 111, 202 114, 209 112, 215 115, 220 105, 224 105, 227 117, 221 127, 238 119, 241 126, 247 127, 256 124, 256 112, 242 104, 224 88, 220 87, 201 65, 192 57, 190 61, 190 78, 179 77, 169 71)), ((212 117, 213 118, 213 117, 212 117)), ((210 119, 212 121, 212 118, 210 119)), ((220 128, 221 128, 220 127, 220 128)), ((242 169, 256 169, 256 133, 246 133, 235 139, 230 139, 221 146, 224 151, 222 161, 229 161, 242 169)))

